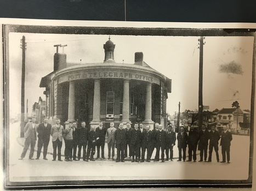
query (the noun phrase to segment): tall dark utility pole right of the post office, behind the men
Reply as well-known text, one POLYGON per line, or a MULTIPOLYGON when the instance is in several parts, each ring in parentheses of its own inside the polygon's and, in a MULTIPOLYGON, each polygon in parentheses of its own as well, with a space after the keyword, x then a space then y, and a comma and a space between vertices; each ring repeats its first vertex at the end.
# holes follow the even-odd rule
POLYGON ((200 37, 199 41, 199 86, 198 86, 198 128, 200 129, 203 124, 203 40, 204 37, 200 37))

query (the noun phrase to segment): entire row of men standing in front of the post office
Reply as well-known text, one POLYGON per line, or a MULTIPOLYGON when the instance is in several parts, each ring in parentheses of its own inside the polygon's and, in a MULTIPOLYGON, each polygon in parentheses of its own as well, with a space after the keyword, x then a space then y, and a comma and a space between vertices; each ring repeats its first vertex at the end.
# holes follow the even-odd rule
MULTIPOLYGON (((33 160, 33 153, 35 151, 36 139, 37 143, 37 157, 39 159, 41 150, 43 147, 43 159, 47 159, 47 150, 52 135, 53 144, 53 161, 57 157, 58 149, 58 160, 61 160, 61 147, 62 140, 65 141, 65 161, 80 160, 81 152, 83 151, 82 159, 86 162, 90 159, 95 161, 95 147, 97 148, 96 159, 105 159, 104 148, 105 148, 105 137, 107 137, 108 147, 108 159, 115 156, 115 147, 117 150, 116 162, 124 162, 124 158, 132 158, 132 162, 150 162, 153 150, 156 148, 156 155, 154 161, 160 161, 160 150, 161 150, 161 162, 165 160, 173 160, 173 146, 175 145, 176 135, 172 126, 168 126, 168 131, 163 130, 162 124, 155 123, 155 129, 150 130, 150 126, 143 127, 143 123, 134 123, 134 128, 131 127, 130 123, 126 123, 127 128, 123 128, 123 123, 118 125, 118 128, 114 127, 114 123, 110 123, 110 128, 106 129, 103 127, 103 123, 99 122, 99 127, 95 128, 92 126, 90 129, 86 128, 86 122, 81 122, 81 127, 77 128, 76 122, 69 122, 69 125, 64 129, 60 124, 60 119, 56 119, 56 124, 51 126, 48 123, 48 118, 44 118, 44 122, 36 124, 36 118, 32 117, 32 122, 27 123, 24 128, 25 143, 24 149, 19 159, 23 159, 26 152, 31 145, 29 159, 33 160), (37 136, 36 136, 37 135, 37 136), (78 148, 78 153, 77 153, 78 148), (83 150, 82 150, 83 148, 83 150), (127 152, 129 148, 129 155, 127 152), (147 151, 146 159, 145 152, 147 151), (166 159, 164 159, 164 152, 166 159), (170 152, 170 154, 169 154, 170 152), (76 156, 77 154, 77 156, 76 156)), ((223 127, 223 133, 221 134, 220 146, 223 160, 221 163, 230 163, 230 142, 232 140, 232 134, 227 131, 227 127, 223 127)), ((206 126, 202 126, 202 130, 198 132, 193 126, 190 127, 189 134, 184 132, 184 127, 180 128, 180 132, 177 135, 179 159, 183 161, 191 162, 192 158, 196 162, 196 150, 200 150, 199 162, 212 162, 213 148, 217 156, 217 162, 219 162, 218 154, 218 141, 220 134, 215 127, 212 127, 211 131, 206 129, 206 126), (207 160, 207 150, 209 142, 209 157, 207 160), (186 147, 189 147, 189 157, 186 159, 186 147)))

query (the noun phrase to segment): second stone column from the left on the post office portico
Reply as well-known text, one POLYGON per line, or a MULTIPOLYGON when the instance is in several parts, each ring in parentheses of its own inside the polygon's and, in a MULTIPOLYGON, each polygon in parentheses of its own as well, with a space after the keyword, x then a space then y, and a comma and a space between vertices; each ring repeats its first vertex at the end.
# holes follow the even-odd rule
POLYGON ((100 80, 94 80, 94 94, 93 94, 93 121, 90 125, 98 125, 100 122, 100 80))

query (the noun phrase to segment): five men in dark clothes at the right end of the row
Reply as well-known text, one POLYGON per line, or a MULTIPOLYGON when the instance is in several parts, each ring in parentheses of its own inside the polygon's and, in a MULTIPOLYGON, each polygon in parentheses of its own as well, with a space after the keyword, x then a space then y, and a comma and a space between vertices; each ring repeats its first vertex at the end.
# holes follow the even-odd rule
MULTIPOLYGON (((220 134, 215 129, 215 127, 211 127, 211 131, 206 129, 206 126, 202 125, 202 130, 198 132, 195 130, 194 126, 190 127, 189 135, 184 132, 184 127, 180 128, 180 132, 177 135, 178 139, 178 150, 179 150, 179 159, 181 158, 183 161, 191 162, 192 158, 194 162, 196 162, 196 150, 198 146, 198 150, 200 150, 200 160, 198 162, 212 162, 212 152, 213 148, 216 153, 217 162, 219 160, 219 139, 220 134), (209 143, 209 144, 208 144, 209 143), (189 147, 189 158, 186 160, 186 147, 189 147), (209 157, 207 160, 207 151, 209 145, 209 157)), ((220 146, 221 146, 221 154, 223 160, 220 163, 230 163, 230 145, 232 141, 232 134, 227 130, 227 126, 223 126, 223 132, 221 133, 220 146)))

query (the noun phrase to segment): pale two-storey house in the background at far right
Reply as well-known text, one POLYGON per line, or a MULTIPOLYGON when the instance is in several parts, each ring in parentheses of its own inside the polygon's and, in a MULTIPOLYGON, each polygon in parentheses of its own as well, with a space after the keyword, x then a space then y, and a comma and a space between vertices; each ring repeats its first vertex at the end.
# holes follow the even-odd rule
POLYGON ((231 132, 237 133, 241 130, 240 123, 243 122, 243 111, 238 108, 223 108, 217 112, 217 127, 226 125, 231 132))

